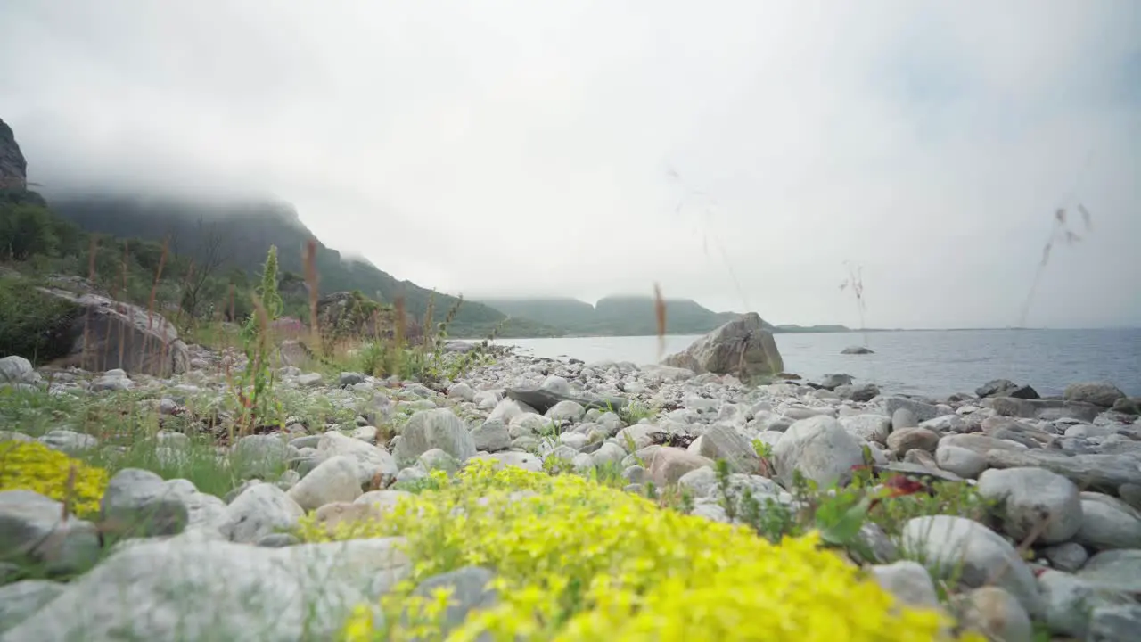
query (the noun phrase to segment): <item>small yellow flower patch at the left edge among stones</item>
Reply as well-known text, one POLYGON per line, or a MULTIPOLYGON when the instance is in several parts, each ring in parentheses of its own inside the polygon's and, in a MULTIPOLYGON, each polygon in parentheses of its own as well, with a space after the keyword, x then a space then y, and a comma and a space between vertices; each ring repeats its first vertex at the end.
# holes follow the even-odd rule
POLYGON ((107 472, 38 442, 0 441, 0 490, 32 490, 86 519, 98 515, 107 472), (71 479, 72 468, 75 471, 71 479))

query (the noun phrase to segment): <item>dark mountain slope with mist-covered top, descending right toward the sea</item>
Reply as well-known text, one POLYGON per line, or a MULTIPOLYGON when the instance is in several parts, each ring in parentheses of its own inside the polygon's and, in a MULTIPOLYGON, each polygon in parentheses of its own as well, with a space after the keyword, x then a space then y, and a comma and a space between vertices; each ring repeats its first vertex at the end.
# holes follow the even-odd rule
MULTIPOLYGON (((192 201, 177 198, 143 198, 130 194, 50 195, 52 210, 90 232, 161 241, 170 238, 175 252, 187 254, 203 266, 221 271, 238 268, 256 273, 269 246, 276 246, 282 271, 304 274, 302 251, 313 238, 286 203, 266 201, 192 201)), ((317 241, 318 289, 322 292, 361 290, 391 303, 403 295, 410 313, 422 318, 431 291, 397 280, 371 263, 345 259, 317 241)), ((442 321, 455 297, 435 296, 434 320, 442 321)), ((503 322, 505 315, 486 305, 464 302, 450 332, 482 336, 503 322)), ((559 330, 527 320, 511 320, 504 336, 551 336, 559 330)))

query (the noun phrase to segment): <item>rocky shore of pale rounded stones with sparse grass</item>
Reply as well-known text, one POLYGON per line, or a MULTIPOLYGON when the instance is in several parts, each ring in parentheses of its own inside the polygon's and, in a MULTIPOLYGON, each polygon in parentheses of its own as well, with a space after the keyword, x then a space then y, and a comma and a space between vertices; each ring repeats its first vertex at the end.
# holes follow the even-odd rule
MULTIPOLYGON (((450 344, 446 359, 467 350, 450 344)), ((769 359, 758 355, 751 363, 769 359)), ((1111 384, 1037 399, 992 382, 916 399, 845 375, 746 385, 496 350, 435 387, 281 367, 274 394, 290 416, 230 442, 219 428, 225 372, 243 358, 200 346, 187 356, 185 372, 164 377, 0 360, 0 640, 329 640, 413 577, 420 593, 454 589, 445 619, 455 625, 495 603, 493 570, 420 578, 400 537, 310 541, 298 528, 383 520, 439 471, 474 462, 609 475, 659 504, 677 492, 667 509, 754 529, 767 511, 819 507, 853 476, 898 473, 924 484, 930 514, 916 501, 877 520, 864 506, 836 554, 901 603, 1012 642, 1141 631, 1141 419, 1111 384), (127 440, 123 426, 147 428, 127 440), (86 468, 54 498, 5 455, 34 444, 113 471, 94 511, 75 514, 86 468), (211 481, 202 470, 224 471, 233 488, 200 488, 211 481), (932 483, 985 509, 944 501, 932 483)))

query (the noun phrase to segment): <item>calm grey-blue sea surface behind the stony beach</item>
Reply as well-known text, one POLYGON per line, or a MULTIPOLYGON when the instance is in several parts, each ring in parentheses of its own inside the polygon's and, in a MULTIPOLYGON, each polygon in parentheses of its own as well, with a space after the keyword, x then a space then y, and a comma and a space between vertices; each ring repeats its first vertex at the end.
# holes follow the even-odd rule
MULTIPOLYGON (((665 338, 666 354, 697 337, 665 338)), ((845 372, 857 383, 926 395, 973 392, 990 379, 1029 384, 1042 395, 1061 394, 1073 382, 1109 380, 1141 396, 1141 329, 1126 330, 922 330, 868 332, 875 354, 840 354, 864 335, 775 335, 785 370, 808 379, 845 372)), ((535 356, 583 361, 658 361, 657 337, 501 339, 535 356)))

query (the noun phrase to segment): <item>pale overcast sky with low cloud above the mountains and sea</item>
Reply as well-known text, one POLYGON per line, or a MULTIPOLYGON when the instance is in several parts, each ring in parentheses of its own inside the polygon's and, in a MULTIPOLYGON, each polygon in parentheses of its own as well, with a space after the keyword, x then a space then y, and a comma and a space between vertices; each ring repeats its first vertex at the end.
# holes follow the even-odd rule
POLYGON ((469 299, 858 327, 858 266, 868 327, 1135 327, 1139 33, 1134 0, 0 0, 0 118, 51 191, 273 195, 469 299))

